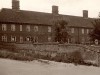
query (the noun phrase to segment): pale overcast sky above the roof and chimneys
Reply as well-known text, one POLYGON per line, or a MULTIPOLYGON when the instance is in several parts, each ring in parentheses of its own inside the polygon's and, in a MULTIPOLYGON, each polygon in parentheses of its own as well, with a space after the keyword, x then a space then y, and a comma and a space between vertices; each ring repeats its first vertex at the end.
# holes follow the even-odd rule
MULTIPOLYGON (((11 8, 12 0, 0 0, 1 8, 11 8)), ((89 17, 98 17, 100 0, 20 0, 21 10, 52 11, 52 5, 59 6, 59 13, 82 16, 83 10, 89 11, 89 17)))

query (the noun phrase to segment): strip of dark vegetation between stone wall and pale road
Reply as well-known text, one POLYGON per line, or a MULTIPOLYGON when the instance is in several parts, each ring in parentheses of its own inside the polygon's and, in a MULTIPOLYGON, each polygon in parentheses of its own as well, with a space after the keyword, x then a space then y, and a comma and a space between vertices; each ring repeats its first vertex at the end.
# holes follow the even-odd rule
POLYGON ((0 49, 0 57, 14 59, 14 60, 21 60, 21 61, 44 59, 56 62, 74 63, 75 65, 97 66, 92 63, 85 63, 79 51, 75 51, 72 53, 57 53, 55 57, 52 57, 50 54, 43 55, 40 53, 36 53, 33 50, 0 49))

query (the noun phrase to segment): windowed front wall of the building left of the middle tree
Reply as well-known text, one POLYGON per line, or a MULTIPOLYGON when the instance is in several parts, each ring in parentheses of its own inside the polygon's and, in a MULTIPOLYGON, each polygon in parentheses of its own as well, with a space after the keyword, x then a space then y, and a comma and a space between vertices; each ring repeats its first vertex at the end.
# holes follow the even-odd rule
POLYGON ((0 41, 2 42, 51 42, 52 26, 29 24, 0 25, 0 41), (44 40, 43 40, 44 39, 44 40))

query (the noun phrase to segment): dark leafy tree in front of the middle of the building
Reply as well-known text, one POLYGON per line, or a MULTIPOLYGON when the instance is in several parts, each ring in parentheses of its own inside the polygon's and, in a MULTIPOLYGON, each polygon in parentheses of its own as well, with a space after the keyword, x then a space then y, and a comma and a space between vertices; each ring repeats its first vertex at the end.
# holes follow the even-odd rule
POLYGON ((68 40, 68 22, 57 20, 55 22, 55 42, 65 43, 68 40))

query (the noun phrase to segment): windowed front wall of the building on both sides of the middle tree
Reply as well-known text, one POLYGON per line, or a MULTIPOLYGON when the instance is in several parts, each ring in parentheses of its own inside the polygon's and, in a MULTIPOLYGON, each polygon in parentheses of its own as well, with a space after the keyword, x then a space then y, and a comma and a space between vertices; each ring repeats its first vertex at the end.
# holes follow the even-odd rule
MULTIPOLYGON (((88 35, 92 29, 69 27, 69 43, 77 43, 79 40, 84 43, 88 40, 88 35), (80 36, 80 37, 79 37, 80 36)), ((0 25, 0 41, 2 42, 54 42, 51 25, 29 25, 29 24, 6 24, 0 25)))

